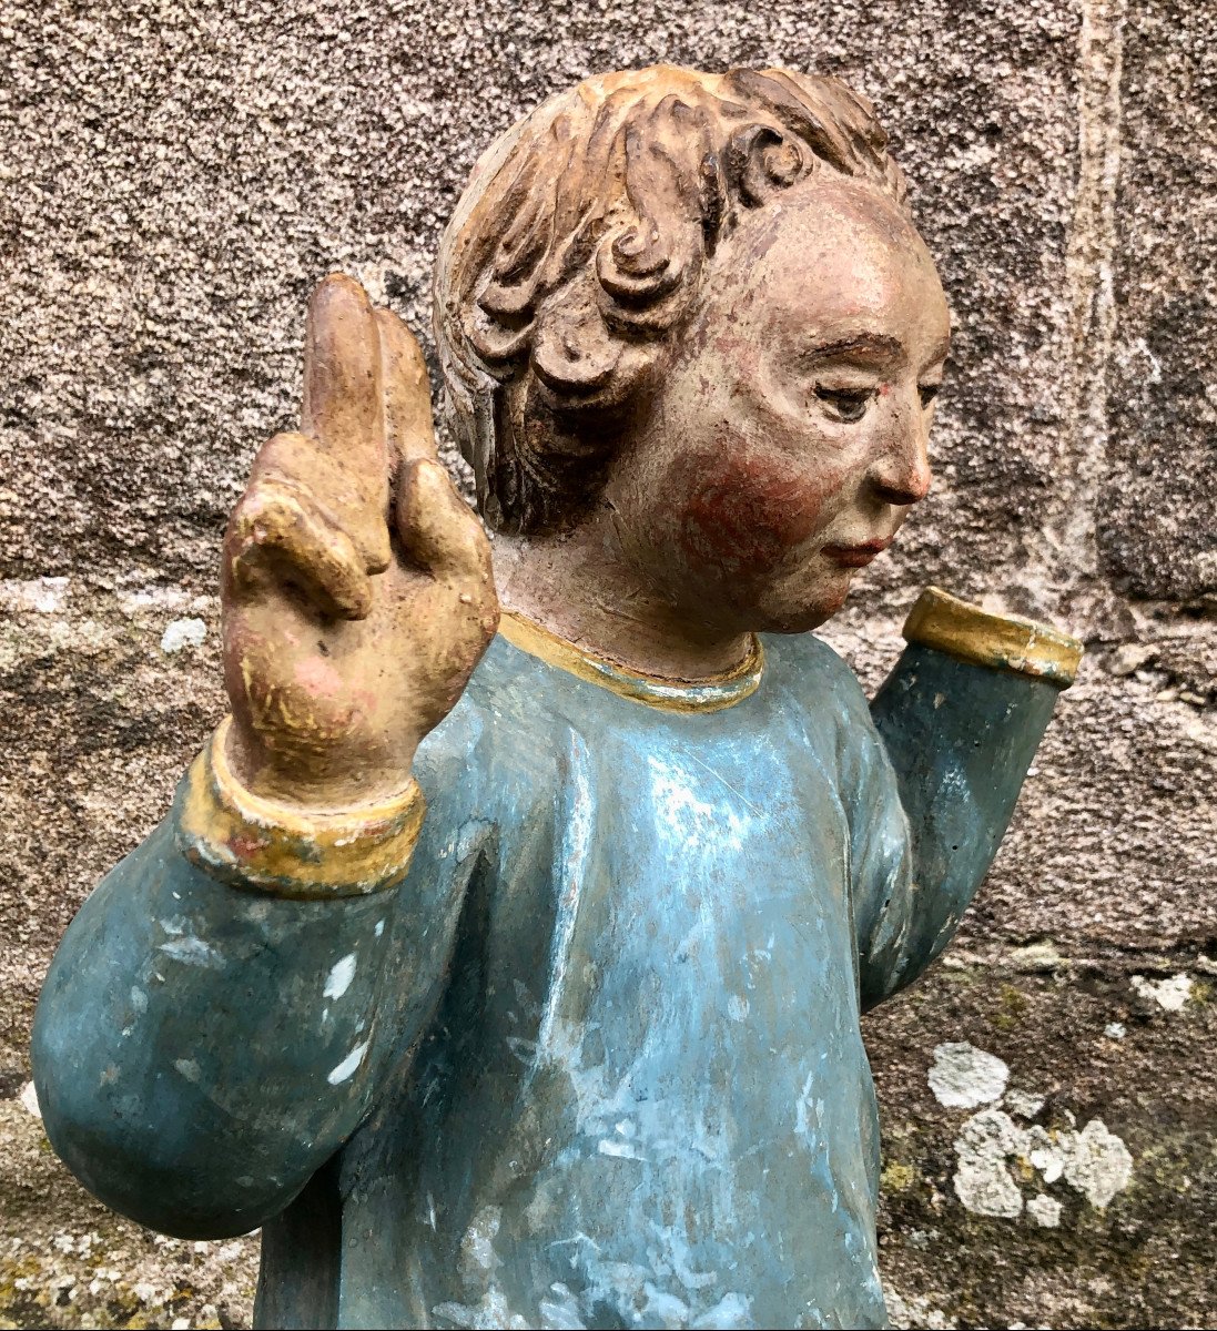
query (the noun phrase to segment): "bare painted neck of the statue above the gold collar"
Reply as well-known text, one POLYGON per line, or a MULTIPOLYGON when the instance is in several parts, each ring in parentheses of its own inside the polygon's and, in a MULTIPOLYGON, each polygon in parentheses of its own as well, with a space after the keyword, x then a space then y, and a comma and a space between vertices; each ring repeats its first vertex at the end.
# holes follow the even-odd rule
POLYGON ((559 536, 497 536, 494 575, 505 610, 647 675, 706 679, 751 647, 750 634, 711 627, 664 598, 605 512, 559 536))

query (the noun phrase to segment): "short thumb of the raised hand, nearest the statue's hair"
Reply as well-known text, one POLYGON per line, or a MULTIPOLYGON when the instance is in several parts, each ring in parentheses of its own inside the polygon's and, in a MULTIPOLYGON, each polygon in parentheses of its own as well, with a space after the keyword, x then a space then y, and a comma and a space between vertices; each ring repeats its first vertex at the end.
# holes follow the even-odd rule
POLYGON ((397 531, 406 554, 437 576, 491 582, 486 532, 438 462, 419 458, 402 467, 397 531))

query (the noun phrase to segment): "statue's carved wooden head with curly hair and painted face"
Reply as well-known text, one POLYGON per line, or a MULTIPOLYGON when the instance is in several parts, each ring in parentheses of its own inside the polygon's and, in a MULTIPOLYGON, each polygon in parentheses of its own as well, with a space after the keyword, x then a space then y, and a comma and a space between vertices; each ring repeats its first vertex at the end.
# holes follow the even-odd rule
POLYGON ((659 65, 510 129, 435 273, 487 522, 546 532, 607 498, 674 596, 732 622, 735 598, 750 627, 827 618, 848 576, 812 612, 808 540, 848 574, 928 487, 949 323, 904 200, 869 104, 832 79, 659 65))

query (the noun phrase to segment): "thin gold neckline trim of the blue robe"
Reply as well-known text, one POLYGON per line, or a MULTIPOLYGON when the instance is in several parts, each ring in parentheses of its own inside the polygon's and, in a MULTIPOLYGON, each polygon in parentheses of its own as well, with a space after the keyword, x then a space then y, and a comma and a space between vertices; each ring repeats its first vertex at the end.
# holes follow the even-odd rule
POLYGON ((664 679, 662 675, 646 675, 628 669, 615 662, 597 656, 583 647, 569 643, 565 638, 551 634, 547 628, 517 615, 503 611, 499 620, 499 634, 521 651, 535 656, 546 666, 565 669, 570 675, 599 684, 612 693, 628 697, 646 707, 658 707, 666 712, 720 712, 742 703, 760 687, 764 673, 764 648, 754 634, 748 655, 734 669, 722 675, 710 675, 698 680, 664 679))

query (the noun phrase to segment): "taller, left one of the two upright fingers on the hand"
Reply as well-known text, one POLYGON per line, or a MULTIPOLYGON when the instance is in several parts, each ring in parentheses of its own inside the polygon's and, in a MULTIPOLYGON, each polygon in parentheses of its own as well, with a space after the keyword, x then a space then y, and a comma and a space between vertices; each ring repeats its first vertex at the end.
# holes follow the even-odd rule
POLYGON ((332 273, 309 301, 301 427, 364 478, 387 473, 381 351, 364 287, 332 273))

